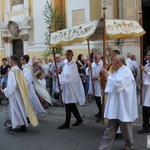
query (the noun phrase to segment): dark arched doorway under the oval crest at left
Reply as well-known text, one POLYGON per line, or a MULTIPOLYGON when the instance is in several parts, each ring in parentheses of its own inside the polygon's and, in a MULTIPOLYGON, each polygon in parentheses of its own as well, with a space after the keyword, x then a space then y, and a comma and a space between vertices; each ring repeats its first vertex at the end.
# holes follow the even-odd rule
POLYGON ((19 58, 18 66, 21 68, 20 57, 23 55, 23 41, 18 39, 13 41, 13 55, 19 58))

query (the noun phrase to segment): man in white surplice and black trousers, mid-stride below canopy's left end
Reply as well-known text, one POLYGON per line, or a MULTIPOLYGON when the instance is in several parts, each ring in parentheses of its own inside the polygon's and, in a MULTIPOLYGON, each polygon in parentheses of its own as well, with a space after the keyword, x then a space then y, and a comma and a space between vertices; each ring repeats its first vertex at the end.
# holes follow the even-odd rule
MULTIPOLYGON (((72 50, 68 50, 66 52, 66 58, 68 62, 63 67, 63 71, 60 75, 60 84, 62 85, 62 100, 65 104, 66 110, 66 120, 64 124, 58 127, 58 129, 66 129, 70 127, 71 113, 73 113, 77 120, 73 126, 78 126, 83 122, 75 103, 84 105, 85 93, 78 73, 77 65, 72 60, 72 57, 72 50)), ((56 71, 59 72, 59 70, 56 71)))

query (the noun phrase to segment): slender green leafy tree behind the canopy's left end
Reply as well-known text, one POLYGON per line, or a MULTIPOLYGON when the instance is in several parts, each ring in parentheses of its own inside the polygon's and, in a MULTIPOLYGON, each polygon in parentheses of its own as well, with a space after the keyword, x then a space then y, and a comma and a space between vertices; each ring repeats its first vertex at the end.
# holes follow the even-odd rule
MULTIPOLYGON (((45 4, 43 15, 47 32, 45 33, 46 50, 44 51, 43 57, 48 57, 52 53, 52 49, 49 47, 51 33, 66 28, 65 14, 61 13, 60 10, 58 6, 53 8, 52 4, 48 1, 45 4)), ((55 52, 62 55, 62 51, 63 47, 60 47, 57 48, 55 52)))

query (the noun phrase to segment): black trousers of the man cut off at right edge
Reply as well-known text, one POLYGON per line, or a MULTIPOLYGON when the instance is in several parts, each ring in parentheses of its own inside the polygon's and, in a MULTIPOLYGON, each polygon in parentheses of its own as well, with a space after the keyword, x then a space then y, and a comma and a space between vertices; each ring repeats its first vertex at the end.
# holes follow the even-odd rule
POLYGON ((143 106, 143 130, 149 130, 150 107, 143 106))

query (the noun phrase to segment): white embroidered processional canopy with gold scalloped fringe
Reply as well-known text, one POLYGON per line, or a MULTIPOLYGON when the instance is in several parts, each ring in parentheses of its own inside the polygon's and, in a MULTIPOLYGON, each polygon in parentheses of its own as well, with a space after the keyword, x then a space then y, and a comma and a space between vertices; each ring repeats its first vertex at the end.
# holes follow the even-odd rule
MULTIPOLYGON (((69 46, 103 39, 103 19, 91 21, 64 30, 51 33, 50 47, 69 46)), ((143 28, 135 20, 106 19, 106 39, 131 38, 145 34, 143 28)))

